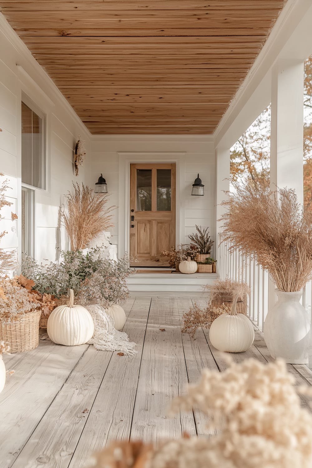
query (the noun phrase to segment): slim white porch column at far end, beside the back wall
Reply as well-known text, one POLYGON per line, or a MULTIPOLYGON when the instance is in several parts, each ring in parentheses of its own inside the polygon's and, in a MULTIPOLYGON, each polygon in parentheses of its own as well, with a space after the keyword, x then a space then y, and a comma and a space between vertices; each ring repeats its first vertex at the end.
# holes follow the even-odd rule
MULTIPOLYGON (((225 278, 229 274, 227 266, 229 262, 225 261, 225 247, 219 247, 219 233, 221 231, 222 222, 218 221, 222 214, 226 211, 221 203, 227 199, 224 193, 230 188, 230 148, 216 148, 216 259, 217 272, 221 278, 225 278)), ((227 253, 226 253, 227 254, 227 253)), ((228 254, 227 254, 228 255, 228 254)))

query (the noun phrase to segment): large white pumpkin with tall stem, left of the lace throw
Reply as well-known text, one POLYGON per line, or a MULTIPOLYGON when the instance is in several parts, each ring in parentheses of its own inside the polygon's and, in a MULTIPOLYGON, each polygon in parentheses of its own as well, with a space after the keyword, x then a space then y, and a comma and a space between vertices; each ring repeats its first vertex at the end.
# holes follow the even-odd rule
POLYGON ((76 346, 87 343, 93 336, 94 323, 85 307, 73 305, 73 290, 67 306, 58 306, 52 310, 47 325, 47 332, 54 343, 76 346))

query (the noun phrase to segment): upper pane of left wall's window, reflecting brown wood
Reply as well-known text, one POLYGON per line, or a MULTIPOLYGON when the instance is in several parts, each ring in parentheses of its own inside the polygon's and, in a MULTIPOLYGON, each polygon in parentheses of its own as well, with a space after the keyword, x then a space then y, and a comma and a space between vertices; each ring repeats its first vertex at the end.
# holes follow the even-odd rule
POLYGON ((44 189, 44 122, 22 102, 22 183, 44 189))

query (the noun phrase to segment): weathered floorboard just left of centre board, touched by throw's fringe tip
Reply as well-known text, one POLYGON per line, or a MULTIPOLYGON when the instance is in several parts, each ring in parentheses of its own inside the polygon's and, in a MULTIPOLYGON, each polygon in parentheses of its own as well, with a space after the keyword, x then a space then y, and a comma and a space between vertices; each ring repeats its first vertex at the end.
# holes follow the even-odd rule
POLYGON ((107 440, 130 437, 150 305, 150 297, 135 300, 123 330, 138 344, 138 353, 133 356, 113 354, 73 454, 71 468, 88 466, 89 454, 102 449, 107 440))

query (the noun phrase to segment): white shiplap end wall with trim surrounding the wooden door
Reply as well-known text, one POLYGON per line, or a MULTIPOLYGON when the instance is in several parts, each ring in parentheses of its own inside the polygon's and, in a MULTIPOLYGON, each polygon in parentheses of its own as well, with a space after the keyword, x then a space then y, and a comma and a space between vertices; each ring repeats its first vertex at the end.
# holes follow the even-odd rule
MULTIPOLYGON (((125 161, 160 162, 177 161, 177 185, 180 200, 177 210, 180 226, 177 226, 178 242, 189 243, 188 235, 195 231, 195 224, 209 226, 214 238, 215 231, 215 153, 214 144, 204 136, 143 136, 143 135, 108 135, 96 136, 91 142, 91 183, 95 183, 100 174, 105 177, 110 192, 114 213, 115 227, 112 229, 112 242, 119 244, 119 255, 123 254, 125 227, 128 220, 120 216, 125 203, 129 203, 129 194, 124 193, 126 181, 120 180, 125 161), (127 155, 129 154, 129 155, 127 155), (191 196, 192 184, 197 173, 205 185, 204 197, 191 196), (118 221, 119 224, 118 225, 118 221)), ((125 215, 126 216, 126 215, 125 215)))

